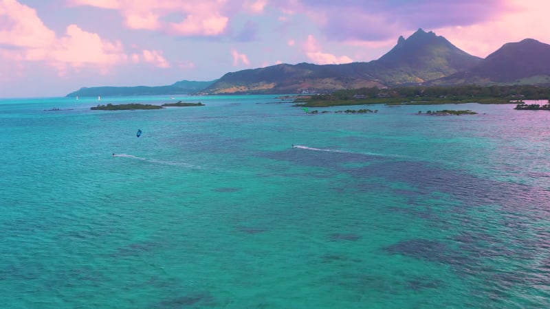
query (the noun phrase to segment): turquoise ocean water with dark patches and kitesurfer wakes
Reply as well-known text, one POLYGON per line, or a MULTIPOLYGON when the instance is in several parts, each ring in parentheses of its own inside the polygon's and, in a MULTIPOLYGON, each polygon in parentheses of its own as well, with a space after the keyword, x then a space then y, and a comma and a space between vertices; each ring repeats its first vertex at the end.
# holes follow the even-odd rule
POLYGON ((549 112, 174 100, 0 100, 1 308, 550 306, 549 112))

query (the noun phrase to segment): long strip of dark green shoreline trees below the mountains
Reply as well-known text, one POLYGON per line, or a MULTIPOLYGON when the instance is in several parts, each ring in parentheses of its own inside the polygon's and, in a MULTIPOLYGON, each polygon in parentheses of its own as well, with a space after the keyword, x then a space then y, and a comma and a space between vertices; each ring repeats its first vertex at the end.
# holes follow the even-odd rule
POLYGON ((523 100, 548 100, 550 87, 516 86, 455 86, 455 87, 395 87, 344 89, 329 94, 279 97, 294 99, 294 106, 329 107, 347 105, 386 104, 437 105, 437 104, 517 104, 523 100))

